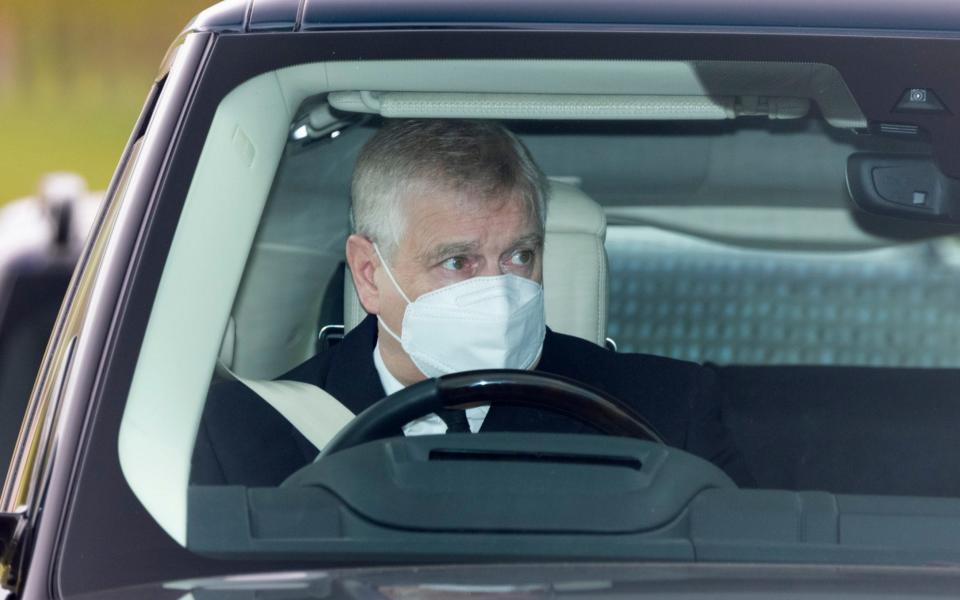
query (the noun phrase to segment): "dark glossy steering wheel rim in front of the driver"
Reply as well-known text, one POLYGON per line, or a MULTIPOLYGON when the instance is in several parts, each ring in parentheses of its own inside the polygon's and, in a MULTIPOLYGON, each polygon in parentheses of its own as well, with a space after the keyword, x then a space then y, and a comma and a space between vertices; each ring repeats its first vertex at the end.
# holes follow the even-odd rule
POLYGON ((394 437, 418 417, 465 404, 538 408, 567 415, 607 435, 663 443, 640 414, 605 392, 559 375, 497 369, 427 379, 391 394, 340 430, 323 449, 323 456, 394 437))

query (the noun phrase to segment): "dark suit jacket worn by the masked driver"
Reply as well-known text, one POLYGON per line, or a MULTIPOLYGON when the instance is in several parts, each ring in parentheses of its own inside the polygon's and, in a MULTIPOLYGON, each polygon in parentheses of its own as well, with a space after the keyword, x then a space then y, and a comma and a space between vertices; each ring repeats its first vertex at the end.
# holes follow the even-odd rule
MULTIPOLYGON (((279 379, 317 385, 358 414, 385 395, 373 364, 376 340, 376 318, 367 317, 340 344, 279 379)), ((741 485, 752 483, 720 419, 721 390, 712 368, 658 356, 618 354, 547 330, 537 370, 570 377, 629 403, 668 444, 712 461, 741 485)), ((592 429, 546 411, 496 406, 481 431, 592 429)), ((249 388, 218 383, 204 408, 191 481, 274 486, 316 456, 317 449, 249 388)))

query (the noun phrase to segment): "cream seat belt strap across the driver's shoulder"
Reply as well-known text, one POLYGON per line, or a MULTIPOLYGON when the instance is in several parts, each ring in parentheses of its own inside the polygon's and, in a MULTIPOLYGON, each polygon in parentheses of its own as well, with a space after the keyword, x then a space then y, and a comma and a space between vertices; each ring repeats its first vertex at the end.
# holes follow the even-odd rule
POLYGON ((326 390, 302 381, 266 381, 246 379, 221 364, 220 367, 236 381, 263 398, 303 437, 323 450, 333 436, 355 416, 326 390))

